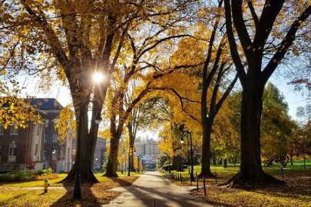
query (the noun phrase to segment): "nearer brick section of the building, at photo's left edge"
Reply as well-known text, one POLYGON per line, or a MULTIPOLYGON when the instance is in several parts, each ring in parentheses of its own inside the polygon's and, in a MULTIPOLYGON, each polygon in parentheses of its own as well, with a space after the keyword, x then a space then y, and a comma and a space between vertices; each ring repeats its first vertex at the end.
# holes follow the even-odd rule
MULTIPOLYGON (((45 112, 41 113, 44 122, 45 112)), ((11 172, 32 168, 41 170, 43 163, 44 127, 29 123, 27 128, 0 125, 0 172, 11 172)))

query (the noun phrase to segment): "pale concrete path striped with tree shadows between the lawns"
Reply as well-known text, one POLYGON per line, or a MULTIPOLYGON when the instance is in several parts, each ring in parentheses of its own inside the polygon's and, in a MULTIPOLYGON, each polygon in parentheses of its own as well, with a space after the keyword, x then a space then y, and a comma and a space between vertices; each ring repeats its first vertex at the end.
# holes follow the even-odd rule
POLYGON ((201 199, 191 197, 189 188, 172 184, 159 172, 146 172, 131 186, 111 190, 122 192, 122 194, 111 201, 111 204, 104 206, 211 206, 201 199))

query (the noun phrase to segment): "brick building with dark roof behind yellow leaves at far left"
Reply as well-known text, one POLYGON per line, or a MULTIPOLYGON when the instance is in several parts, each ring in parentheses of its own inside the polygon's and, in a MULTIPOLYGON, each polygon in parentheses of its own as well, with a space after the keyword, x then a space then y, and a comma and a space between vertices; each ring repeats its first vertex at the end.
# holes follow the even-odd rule
POLYGON ((0 171, 53 168, 55 172, 68 172, 72 167, 73 133, 64 143, 58 139, 57 124, 62 105, 56 99, 27 99, 41 113, 44 124, 28 124, 27 128, 0 126, 0 171))

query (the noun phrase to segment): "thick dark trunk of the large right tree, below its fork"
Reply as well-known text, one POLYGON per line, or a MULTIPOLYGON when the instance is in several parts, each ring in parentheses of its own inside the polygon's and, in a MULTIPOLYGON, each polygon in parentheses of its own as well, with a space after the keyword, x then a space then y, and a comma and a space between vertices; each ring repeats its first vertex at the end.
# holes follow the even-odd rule
POLYGON ((261 112, 263 110, 263 84, 250 83, 243 88, 241 108, 241 170, 228 181, 234 188, 281 184, 267 175, 261 166, 261 112))

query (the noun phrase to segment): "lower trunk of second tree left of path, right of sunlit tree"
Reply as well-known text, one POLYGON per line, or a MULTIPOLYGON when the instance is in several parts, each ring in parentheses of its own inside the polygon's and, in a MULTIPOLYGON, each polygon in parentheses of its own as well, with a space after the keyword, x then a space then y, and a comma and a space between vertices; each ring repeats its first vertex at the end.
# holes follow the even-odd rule
POLYGON ((109 159, 106 168, 106 177, 117 177, 117 152, 119 150, 120 136, 114 135, 110 140, 109 159))

